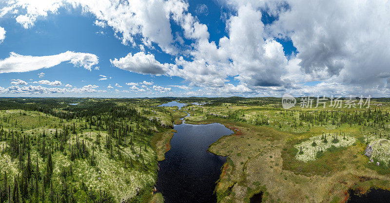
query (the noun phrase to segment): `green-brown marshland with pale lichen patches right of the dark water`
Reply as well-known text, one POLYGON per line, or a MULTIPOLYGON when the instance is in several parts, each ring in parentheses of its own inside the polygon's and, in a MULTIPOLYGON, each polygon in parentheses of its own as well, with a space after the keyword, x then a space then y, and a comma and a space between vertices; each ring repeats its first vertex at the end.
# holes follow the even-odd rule
POLYGON ((284 110, 280 98, 261 99, 210 98, 182 108, 191 114, 187 123, 218 122, 235 132, 209 148, 228 156, 218 202, 246 202, 259 192, 271 203, 345 202, 350 189, 390 188, 387 141, 374 149, 373 162, 364 155, 367 144, 390 139, 389 100, 372 99, 370 109, 284 110))

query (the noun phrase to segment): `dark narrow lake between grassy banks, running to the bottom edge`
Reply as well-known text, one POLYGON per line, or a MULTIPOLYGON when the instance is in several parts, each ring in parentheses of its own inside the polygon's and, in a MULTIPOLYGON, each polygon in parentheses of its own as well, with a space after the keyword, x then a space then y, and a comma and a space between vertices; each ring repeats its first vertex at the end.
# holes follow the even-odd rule
MULTIPOLYGON (((188 116, 188 115, 187 115, 188 116)), ((207 151, 209 145, 224 135, 232 134, 222 124, 175 125, 171 150, 159 162, 157 192, 165 203, 215 203, 216 181, 226 157, 207 151)))

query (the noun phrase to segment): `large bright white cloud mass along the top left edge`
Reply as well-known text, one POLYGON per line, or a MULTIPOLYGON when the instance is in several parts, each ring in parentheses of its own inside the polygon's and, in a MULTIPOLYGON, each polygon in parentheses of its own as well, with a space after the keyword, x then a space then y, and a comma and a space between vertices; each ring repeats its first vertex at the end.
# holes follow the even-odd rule
POLYGON ((16 15, 16 21, 27 29, 34 25, 37 18, 56 14, 60 7, 65 6, 80 7, 84 12, 93 14, 97 18, 95 24, 112 27, 121 34, 123 44, 135 45, 134 37, 140 35, 144 45, 152 47, 152 42, 156 42, 167 53, 177 52, 170 21, 188 9, 188 3, 183 0, 12 0, 0 13, 5 15, 13 9, 25 11, 23 15, 16 15))

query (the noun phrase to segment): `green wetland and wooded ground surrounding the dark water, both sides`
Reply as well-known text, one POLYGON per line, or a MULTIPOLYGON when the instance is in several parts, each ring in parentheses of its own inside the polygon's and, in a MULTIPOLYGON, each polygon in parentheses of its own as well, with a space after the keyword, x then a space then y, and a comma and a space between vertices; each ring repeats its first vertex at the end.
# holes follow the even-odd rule
POLYGON ((387 99, 285 110, 274 97, 1 98, 0 202, 162 203, 157 161, 187 113, 188 124, 234 131, 208 149, 227 156, 218 203, 347 202, 390 189, 389 109, 387 99), (177 99, 189 105, 157 107, 177 99))

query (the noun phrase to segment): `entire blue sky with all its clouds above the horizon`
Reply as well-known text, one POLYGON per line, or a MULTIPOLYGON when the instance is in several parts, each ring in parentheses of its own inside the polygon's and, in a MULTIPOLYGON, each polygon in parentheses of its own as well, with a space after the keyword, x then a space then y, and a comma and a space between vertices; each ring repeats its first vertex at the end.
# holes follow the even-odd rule
POLYGON ((388 96, 390 26, 343 23, 383 5, 329 3, 4 1, 0 96, 388 96))

